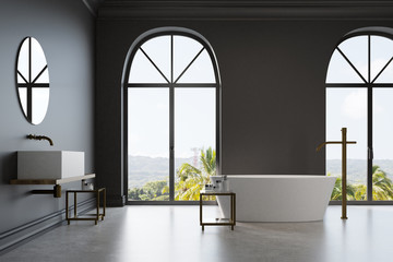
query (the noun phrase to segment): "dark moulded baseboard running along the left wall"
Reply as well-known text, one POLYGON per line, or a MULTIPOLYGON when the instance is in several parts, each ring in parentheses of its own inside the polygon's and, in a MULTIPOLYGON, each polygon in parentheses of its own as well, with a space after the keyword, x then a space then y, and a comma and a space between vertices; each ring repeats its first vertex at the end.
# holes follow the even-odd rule
MULTIPOLYGON (((95 198, 82 201, 78 204, 78 211, 83 213, 93 210, 95 203, 95 198)), ((0 255, 60 226, 64 221, 66 209, 0 234, 0 255)))

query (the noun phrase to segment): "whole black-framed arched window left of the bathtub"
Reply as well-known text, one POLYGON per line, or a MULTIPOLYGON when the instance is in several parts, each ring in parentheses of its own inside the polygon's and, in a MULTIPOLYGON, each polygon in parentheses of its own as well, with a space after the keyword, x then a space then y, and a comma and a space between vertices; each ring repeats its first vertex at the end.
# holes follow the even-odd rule
POLYGON ((212 47, 193 31, 134 41, 123 73, 129 202, 199 200, 218 165, 219 82, 212 47))

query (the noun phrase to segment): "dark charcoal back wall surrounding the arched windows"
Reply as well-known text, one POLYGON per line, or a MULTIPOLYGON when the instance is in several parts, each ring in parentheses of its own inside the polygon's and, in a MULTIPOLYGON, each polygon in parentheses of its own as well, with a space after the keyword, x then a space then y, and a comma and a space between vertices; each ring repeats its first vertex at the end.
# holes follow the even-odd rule
POLYGON ((214 48, 223 83, 222 174, 322 175, 324 153, 317 154, 315 147, 325 138, 324 82, 332 51, 353 29, 393 26, 388 20, 362 20, 365 9, 352 20, 345 13, 340 19, 330 14, 319 19, 308 12, 308 17, 290 13, 291 19, 283 19, 286 9, 277 19, 257 17, 258 11, 250 9, 251 19, 247 14, 230 19, 224 17, 219 8, 217 16, 206 8, 200 13, 204 15, 206 10, 210 17, 199 19, 189 10, 187 20, 176 9, 152 8, 155 15, 164 17, 159 20, 150 16, 147 8, 143 12, 127 8, 107 5, 97 21, 96 168, 106 174, 98 182, 109 184, 109 194, 117 199, 126 193, 121 174, 122 69, 131 44, 142 33, 162 26, 187 27, 202 34, 214 48))

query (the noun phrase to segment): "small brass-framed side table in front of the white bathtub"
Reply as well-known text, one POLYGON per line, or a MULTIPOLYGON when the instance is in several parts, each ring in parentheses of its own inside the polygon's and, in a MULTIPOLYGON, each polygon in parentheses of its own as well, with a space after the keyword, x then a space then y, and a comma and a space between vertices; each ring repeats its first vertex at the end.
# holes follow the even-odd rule
POLYGON ((234 192, 216 192, 216 191, 206 191, 201 190, 200 192, 200 225, 202 226, 202 231, 205 226, 230 226, 230 229, 234 230, 236 225, 236 193, 234 192), (223 222, 222 219, 216 219, 215 222, 203 222, 202 211, 203 211, 203 196, 204 195, 228 195, 230 198, 230 218, 229 221, 223 222))

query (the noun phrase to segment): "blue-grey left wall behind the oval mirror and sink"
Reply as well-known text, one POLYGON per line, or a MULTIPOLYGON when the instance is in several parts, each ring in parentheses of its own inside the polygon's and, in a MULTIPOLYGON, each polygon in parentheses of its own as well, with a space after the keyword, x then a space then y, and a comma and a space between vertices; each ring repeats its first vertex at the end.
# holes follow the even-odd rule
MULTIPOLYGON (((85 152, 85 171, 94 172, 94 34, 95 20, 82 0, 2 0, 0 8, 0 236, 64 209, 61 199, 32 195, 32 189, 52 186, 11 186, 16 178, 16 151, 85 152), (24 37, 41 45, 50 78, 46 118, 29 124, 15 90, 15 60, 24 37), (28 141, 26 134, 45 134, 28 141)), ((69 183, 67 188, 80 188, 69 183)), ((0 239, 1 240, 1 239, 0 239)), ((0 241, 1 250, 1 241, 0 241)))

